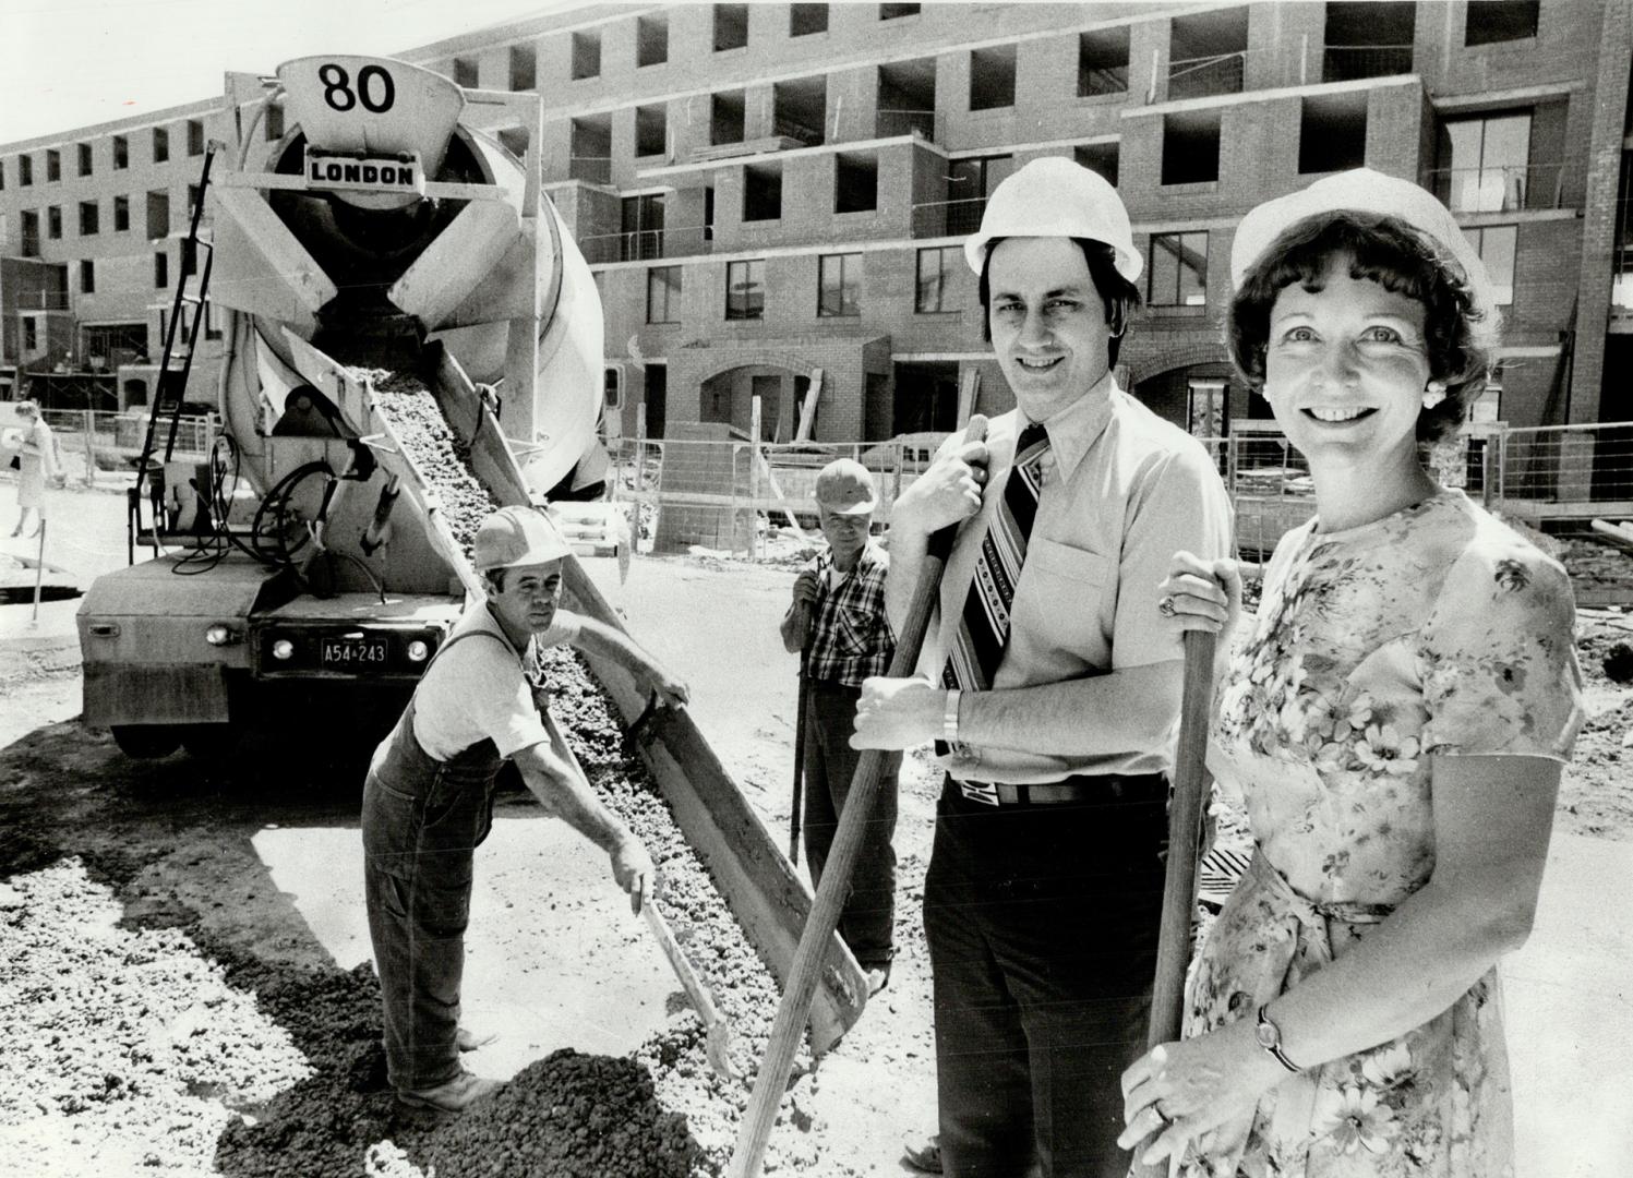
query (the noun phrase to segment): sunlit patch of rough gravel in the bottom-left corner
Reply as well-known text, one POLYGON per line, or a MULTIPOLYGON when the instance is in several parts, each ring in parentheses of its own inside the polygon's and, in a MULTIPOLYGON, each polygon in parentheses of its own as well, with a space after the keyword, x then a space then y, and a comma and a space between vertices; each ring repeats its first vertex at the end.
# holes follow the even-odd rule
POLYGON ((10 1175, 212 1173, 232 1108, 312 1067, 173 928, 65 859, 0 886, 0 1155, 10 1175))

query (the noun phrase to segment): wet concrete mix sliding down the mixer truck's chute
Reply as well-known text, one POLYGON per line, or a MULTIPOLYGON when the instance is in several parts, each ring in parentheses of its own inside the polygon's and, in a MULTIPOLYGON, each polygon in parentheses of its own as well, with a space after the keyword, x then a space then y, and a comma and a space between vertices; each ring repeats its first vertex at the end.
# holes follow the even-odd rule
MULTIPOLYGON (((441 495, 444 520, 469 552, 482 518, 496 506, 470 472, 469 453, 457 444, 434 397, 423 386, 379 369, 369 376, 380 392, 382 413, 441 495)), ((552 716, 603 802, 635 832, 658 863, 663 877, 658 908, 732 1028, 736 1078, 722 1078, 709 1067, 702 1023, 691 1013, 671 1020, 663 1033, 635 1052, 635 1059, 652 1072, 661 1106, 686 1114, 699 1147, 694 1171, 719 1173, 730 1157, 736 1122, 748 1104, 781 992, 702 861, 674 825, 645 766, 632 750, 624 748, 622 727, 583 660, 563 647, 547 650, 544 667, 552 716)), ((516 1077, 506 1091, 526 1087, 527 1077, 529 1072, 516 1077)), ((784 1114, 792 1116, 790 1109, 784 1114)), ((645 1160, 648 1155, 630 1157, 645 1160)), ((768 1153, 768 1170, 777 1162, 768 1153)), ((797 1165, 795 1158, 782 1162, 797 1165)))

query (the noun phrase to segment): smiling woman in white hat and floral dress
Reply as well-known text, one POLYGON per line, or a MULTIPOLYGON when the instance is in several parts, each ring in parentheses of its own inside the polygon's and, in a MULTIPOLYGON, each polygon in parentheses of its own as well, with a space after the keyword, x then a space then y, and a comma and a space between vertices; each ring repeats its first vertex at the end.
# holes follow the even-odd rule
POLYGON ((1439 201, 1367 170, 1249 212, 1231 276, 1231 356, 1316 516, 1233 655, 1230 562, 1177 554, 1161 588, 1172 626, 1223 632, 1208 763, 1257 850, 1187 1037, 1124 1075, 1124 1144, 1187 1175, 1509 1175, 1494 966, 1582 709, 1564 570, 1419 456, 1484 382, 1491 284, 1439 201))

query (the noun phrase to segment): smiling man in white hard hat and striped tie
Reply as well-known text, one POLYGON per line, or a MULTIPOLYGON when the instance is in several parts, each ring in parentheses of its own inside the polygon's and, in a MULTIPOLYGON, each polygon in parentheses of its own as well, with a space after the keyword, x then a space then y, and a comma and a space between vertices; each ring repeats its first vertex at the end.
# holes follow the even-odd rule
POLYGON ((1156 587, 1176 549, 1230 554, 1230 502, 1112 376, 1141 271, 1115 188, 1034 160, 965 258, 1016 408, 892 508, 898 627, 929 536, 959 533, 919 673, 864 685, 856 740, 936 740, 947 774, 924 882, 944 1171, 1122 1178, 1184 667, 1156 587))

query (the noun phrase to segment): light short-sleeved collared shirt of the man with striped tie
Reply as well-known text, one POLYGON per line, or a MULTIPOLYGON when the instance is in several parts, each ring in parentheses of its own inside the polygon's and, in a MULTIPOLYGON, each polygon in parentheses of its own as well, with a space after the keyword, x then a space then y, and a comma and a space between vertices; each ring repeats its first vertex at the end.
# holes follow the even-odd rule
MULTIPOLYGON (((941 683, 975 560, 1003 502, 1019 408, 988 425, 991 479, 981 510, 959 528, 918 670, 941 683)), ((1037 516, 1011 605, 1009 640, 993 688, 1024 688, 1184 658, 1176 631, 1156 611, 1158 583, 1174 552, 1204 559, 1231 554, 1231 506, 1213 459, 1106 374, 1089 392, 1043 423, 1048 453, 1037 516)), ((942 453, 962 444, 954 435, 942 453)), ((1084 724, 1097 717, 1084 716, 1084 724)), ((1068 756, 1045 748, 968 748, 937 758, 954 778, 1037 784, 1089 773, 1171 773, 1179 694, 1166 737, 1155 748, 1068 756)))

